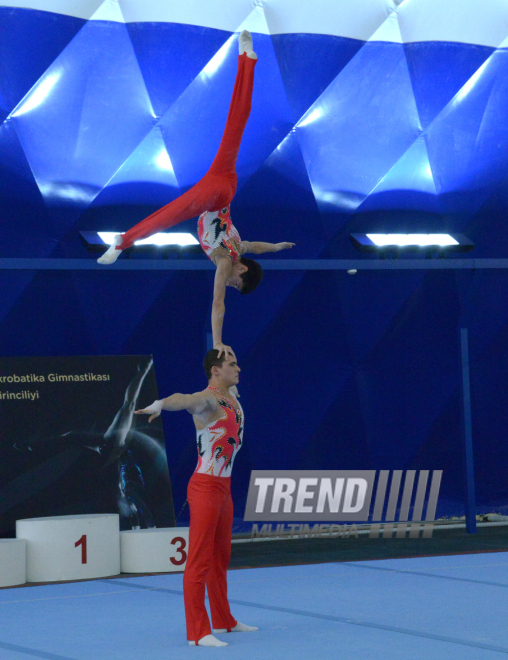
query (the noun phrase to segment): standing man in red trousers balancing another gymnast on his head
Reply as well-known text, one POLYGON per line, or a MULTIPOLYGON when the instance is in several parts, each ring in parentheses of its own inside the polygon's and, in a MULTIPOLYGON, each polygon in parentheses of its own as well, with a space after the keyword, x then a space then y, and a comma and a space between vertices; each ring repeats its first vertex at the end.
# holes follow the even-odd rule
POLYGON ((205 608, 205 585, 215 633, 257 630, 233 618, 227 597, 231 557, 233 501, 231 472, 242 446, 244 416, 236 397, 240 367, 235 358, 208 351, 204 360, 208 387, 195 394, 172 394, 136 414, 187 410, 194 418, 198 464, 187 488, 190 509, 189 554, 183 576, 185 619, 189 644, 228 646, 212 635, 205 608))

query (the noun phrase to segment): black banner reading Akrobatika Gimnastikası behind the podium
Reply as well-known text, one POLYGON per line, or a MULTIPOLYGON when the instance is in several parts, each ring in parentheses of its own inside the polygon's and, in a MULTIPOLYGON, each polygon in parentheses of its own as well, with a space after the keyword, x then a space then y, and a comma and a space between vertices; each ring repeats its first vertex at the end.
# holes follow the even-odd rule
POLYGON ((21 518, 120 515, 121 529, 175 517, 150 356, 0 358, 0 535, 21 518))

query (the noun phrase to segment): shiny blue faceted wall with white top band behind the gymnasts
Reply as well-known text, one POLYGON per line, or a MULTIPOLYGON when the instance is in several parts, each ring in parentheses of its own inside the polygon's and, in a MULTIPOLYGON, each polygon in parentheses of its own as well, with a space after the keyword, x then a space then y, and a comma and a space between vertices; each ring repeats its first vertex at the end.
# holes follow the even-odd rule
MULTIPOLYGON (((95 259, 80 230, 125 231, 205 173, 245 28, 259 62, 232 205, 242 237, 295 242, 279 261, 358 259, 355 231, 460 231, 467 258, 507 254, 505 0, 13 0, 0 6, 2 355, 153 353, 161 396, 204 387, 213 271, 41 260, 95 259)), ((438 514, 461 515, 460 327, 477 501, 506 510, 507 293, 502 268, 304 263, 228 292, 247 417, 236 516, 251 469, 332 467, 443 469, 438 514)), ((178 513, 194 431, 186 413, 164 427, 178 513)))

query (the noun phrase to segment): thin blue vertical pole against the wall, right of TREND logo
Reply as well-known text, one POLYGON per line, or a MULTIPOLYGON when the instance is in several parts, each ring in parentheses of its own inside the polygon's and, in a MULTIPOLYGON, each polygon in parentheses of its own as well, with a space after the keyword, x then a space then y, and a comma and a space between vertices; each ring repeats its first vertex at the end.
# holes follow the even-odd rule
POLYGON ((476 534, 476 501, 474 492, 473 426, 471 423, 471 389, 469 384, 469 348, 467 328, 460 329, 462 355, 462 393, 464 397, 464 455, 466 482, 466 530, 476 534))

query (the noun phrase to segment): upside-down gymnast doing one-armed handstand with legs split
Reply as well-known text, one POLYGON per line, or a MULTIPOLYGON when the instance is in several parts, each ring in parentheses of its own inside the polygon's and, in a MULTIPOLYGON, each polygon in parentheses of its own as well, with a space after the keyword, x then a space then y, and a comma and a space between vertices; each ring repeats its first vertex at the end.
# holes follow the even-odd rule
POLYGON ((254 66, 257 62, 257 55, 252 50, 252 37, 247 30, 240 34, 238 45, 240 56, 233 96, 219 150, 210 169, 186 193, 152 213, 125 234, 115 236, 111 247, 98 259, 101 264, 111 264, 122 250, 131 247, 135 241, 199 215, 199 242, 217 267, 212 304, 212 334, 213 346, 219 351, 219 355, 223 351, 233 354, 231 348, 222 343, 226 286, 234 287, 240 293, 250 293, 263 277, 261 266, 243 255, 246 252, 279 252, 294 245, 242 242, 240 234, 231 222, 229 205, 236 192, 236 159, 250 114, 254 66))

